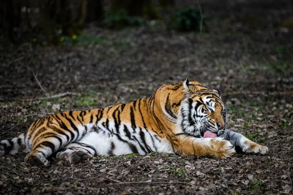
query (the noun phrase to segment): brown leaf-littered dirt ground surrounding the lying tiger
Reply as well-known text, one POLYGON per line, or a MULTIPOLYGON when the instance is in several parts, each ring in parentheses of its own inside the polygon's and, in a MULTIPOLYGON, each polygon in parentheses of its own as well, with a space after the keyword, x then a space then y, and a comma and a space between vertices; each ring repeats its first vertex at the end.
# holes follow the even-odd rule
POLYGON ((0 47, 0 140, 49 114, 133 101, 189 78, 220 88, 229 128, 268 146, 268 155, 152 153, 77 165, 52 158, 48 167, 29 167, 25 154, 0 155, 0 194, 293 193, 293 29, 285 23, 293 4, 209 0, 201 6, 211 17, 202 35, 151 21, 119 31, 89 25, 90 41, 62 47, 0 47))

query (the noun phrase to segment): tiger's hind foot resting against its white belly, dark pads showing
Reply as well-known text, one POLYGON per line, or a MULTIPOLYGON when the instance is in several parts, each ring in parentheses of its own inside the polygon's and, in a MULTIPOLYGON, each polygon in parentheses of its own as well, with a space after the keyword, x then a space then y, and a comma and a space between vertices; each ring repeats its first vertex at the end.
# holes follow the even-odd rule
POLYGON ((56 158, 67 162, 68 164, 85 163, 93 156, 97 156, 96 149, 89 144, 74 142, 66 146, 66 148, 57 153, 56 158))

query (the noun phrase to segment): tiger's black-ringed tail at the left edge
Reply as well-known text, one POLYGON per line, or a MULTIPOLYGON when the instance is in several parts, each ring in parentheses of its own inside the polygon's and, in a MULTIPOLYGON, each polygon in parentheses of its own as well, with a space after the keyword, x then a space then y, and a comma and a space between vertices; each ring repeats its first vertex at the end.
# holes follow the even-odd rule
POLYGON ((0 153, 15 155, 18 151, 27 153, 27 149, 24 143, 24 133, 18 137, 14 137, 10 140, 1 140, 0 141, 0 153))

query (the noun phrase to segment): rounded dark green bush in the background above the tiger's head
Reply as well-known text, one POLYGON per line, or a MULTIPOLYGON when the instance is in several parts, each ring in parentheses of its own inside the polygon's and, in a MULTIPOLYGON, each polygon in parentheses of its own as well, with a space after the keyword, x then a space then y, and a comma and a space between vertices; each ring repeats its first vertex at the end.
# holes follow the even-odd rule
POLYGON ((208 19, 206 14, 189 6, 178 9, 171 17, 168 28, 178 31, 199 31, 202 25, 203 30, 207 29, 205 20, 208 19))

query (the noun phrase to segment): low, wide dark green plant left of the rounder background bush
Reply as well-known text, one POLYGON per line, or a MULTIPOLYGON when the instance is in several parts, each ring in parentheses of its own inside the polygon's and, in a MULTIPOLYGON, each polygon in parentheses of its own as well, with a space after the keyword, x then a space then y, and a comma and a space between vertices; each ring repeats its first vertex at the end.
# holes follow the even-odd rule
POLYGON ((103 25, 105 28, 121 29, 127 26, 141 26, 145 25, 146 20, 141 17, 130 17, 124 9, 117 13, 108 13, 105 16, 103 25))

